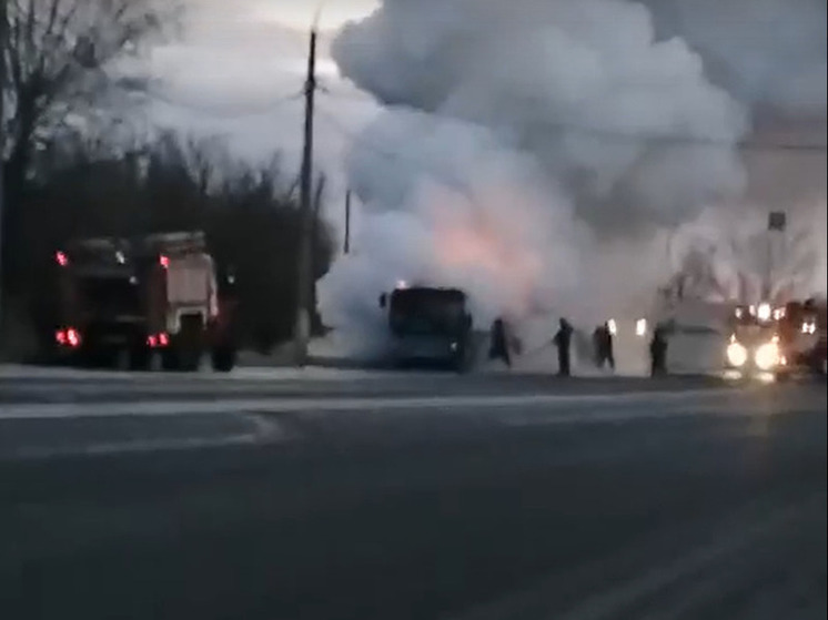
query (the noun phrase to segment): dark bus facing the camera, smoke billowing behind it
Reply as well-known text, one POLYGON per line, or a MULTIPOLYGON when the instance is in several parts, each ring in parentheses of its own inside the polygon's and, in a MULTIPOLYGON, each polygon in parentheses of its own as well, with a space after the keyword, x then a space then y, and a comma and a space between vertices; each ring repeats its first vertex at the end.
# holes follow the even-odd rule
POLYGON ((380 296, 387 309, 391 356, 396 365, 428 364, 463 372, 471 363, 472 315, 457 288, 398 283, 380 296))

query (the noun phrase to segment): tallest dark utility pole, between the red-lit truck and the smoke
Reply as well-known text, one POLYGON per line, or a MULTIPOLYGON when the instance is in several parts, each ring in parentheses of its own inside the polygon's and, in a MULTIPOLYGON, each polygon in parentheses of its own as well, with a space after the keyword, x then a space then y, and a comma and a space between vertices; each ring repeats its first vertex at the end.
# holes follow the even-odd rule
POLYGON ((307 342, 311 336, 311 286, 313 286, 312 192, 313 192, 313 112, 316 94, 316 27, 311 30, 307 54, 307 79, 305 81, 305 128, 302 152, 302 179, 300 183, 300 240, 296 274, 296 323, 293 328, 293 346, 296 366, 307 362, 307 342))

